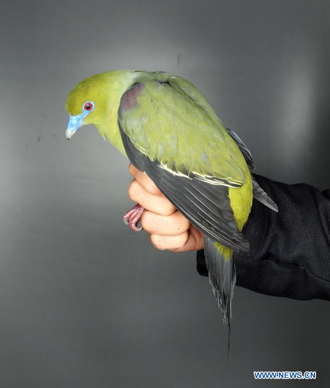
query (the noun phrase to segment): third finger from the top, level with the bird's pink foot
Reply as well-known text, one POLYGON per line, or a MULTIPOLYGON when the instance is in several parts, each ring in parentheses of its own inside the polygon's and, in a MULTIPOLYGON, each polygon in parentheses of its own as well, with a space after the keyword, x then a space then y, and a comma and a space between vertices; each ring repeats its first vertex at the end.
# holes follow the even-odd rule
POLYGON ((143 229, 150 234, 179 235, 189 229, 190 222, 179 212, 163 216, 152 211, 144 211, 141 217, 143 229))

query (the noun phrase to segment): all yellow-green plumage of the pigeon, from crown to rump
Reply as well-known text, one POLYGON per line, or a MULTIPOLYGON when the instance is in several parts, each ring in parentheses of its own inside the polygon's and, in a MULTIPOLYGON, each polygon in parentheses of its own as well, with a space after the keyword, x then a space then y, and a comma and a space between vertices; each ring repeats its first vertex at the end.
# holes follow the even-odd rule
POLYGON ((66 109, 70 115, 76 115, 84 101, 95 100, 95 110, 83 124, 95 124, 101 135, 126 156, 118 128, 118 110, 122 95, 136 82, 142 82, 145 89, 143 95, 137 96, 134 114, 129 112, 123 117, 130 139, 152 160, 163 165, 174 160, 182 174, 197 172, 226 179, 229 184, 241 184, 229 187, 230 204, 241 230, 252 205, 248 166, 214 109, 190 81, 167 73, 109 71, 80 82, 69 94, 66 109), (171 86, 158 81, 170 81, 171 86), (137 122, 142 122, 143 132, 135 130, 137 122))

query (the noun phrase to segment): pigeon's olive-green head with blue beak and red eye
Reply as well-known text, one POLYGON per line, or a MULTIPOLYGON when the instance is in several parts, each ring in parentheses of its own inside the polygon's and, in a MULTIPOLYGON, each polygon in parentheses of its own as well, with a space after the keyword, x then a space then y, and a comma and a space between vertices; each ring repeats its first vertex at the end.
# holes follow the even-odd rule
POLYGON ((66 110, 70 115, 65 135, 72 138, 77 129, 86 124, 102 124, 107 115, 108 106, 106 88, 107 73, 86 78, 70 92, 66 100, 66 110))

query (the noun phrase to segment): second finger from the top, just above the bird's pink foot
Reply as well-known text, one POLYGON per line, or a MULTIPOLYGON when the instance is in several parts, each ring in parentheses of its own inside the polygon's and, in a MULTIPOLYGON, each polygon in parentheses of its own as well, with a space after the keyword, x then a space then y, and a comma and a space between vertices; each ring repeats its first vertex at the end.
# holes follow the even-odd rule
POLYGON ((164 196, 150 194, 135 179, 128 188, 128 196, 134 202, 161 215, 170 215, 176 211, 175 207, 164 196))

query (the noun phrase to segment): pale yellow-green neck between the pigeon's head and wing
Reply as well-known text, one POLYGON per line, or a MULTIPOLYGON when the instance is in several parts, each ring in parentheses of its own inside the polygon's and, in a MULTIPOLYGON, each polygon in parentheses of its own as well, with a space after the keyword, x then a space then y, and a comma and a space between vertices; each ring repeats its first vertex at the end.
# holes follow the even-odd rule
POLYGON ((135 83, 138 77, 139 73, 132 70, 116 70, 107 74, 107 91, 105 93, 108 93, 108 96, 106 97, 105 119, 95 123, 101 135, 118 148, 124 156, 127 155, 121 141, 118 126, 118 110, 121 96, 135 83))

